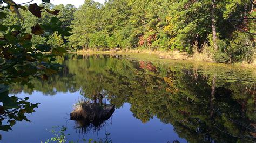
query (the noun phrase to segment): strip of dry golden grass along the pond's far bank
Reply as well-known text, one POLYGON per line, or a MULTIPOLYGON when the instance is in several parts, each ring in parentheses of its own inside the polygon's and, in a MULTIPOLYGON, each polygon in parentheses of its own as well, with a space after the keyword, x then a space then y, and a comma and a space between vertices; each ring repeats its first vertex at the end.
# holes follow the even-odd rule
MULTIPOLYGON (((212 60, 211 57, 206 57, 205 55, 198 53, 194 55, 189 55, 186 52, 179 51, 150 51, 150 50, 119 50, 119 51, 92 51, 92 50, 80 50, 77 52, 68 52, 73 54, 150 54, 158 56, 159 60, 181 60, 181 61, 191 61, 191 62, 208 62, 208 63, 220 63, 212 60)), ((225 65, 241 66, 244 68, 256 69, 256 63, 220 63, 225 65)))

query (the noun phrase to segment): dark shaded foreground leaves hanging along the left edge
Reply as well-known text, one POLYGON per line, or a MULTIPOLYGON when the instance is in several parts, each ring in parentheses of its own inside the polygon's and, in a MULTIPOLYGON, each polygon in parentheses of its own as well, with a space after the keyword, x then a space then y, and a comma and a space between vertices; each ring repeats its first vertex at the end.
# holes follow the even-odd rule
MULTIPOLYGON (((55 62, 55 57, 63 55, 66 50, 62 47, 53 48, 48 42, 55 35, 67 36, 69 33, 66 31, 67 29, 62 28, 62 22, 56 17, 52 17, 48 23, 31 26, 30 32, 17 23, 5 24, 4 22, 10 18, 7 16, 9 10, 12 12, 11 15, 19 18, 19 22, 24 23, 19 9, 26 11, 27 8, 12 0, 0 2, 6 4, 0 10, 0 102, 3 103, 0 130, 8 131, 16 121, 29 121, 24 114, 32 113, 38 105, 38 103, 29 103, 28 98, 9 97, 8 85, 20 82, 22 85, 27 85, 33 89, 30 82, 31 78, 47 80, 49 75, 56 73, 62 65, 55 62), (43 37, 44 40, 34 44, 32 43, 33 36, 43 37), (52 54, 43 54, 43 52, 50 51, 52 54), (8 125, 2 125, 4 119, 7 120, 8 125)), ((42 2, 49 1, 43 0, 42 2)), ((58 15, 59 12, 58 10, 48 10, 36 3, 28 6, 32 15, 38 18, 41 17, 43 9, 53 15, 58 15)))

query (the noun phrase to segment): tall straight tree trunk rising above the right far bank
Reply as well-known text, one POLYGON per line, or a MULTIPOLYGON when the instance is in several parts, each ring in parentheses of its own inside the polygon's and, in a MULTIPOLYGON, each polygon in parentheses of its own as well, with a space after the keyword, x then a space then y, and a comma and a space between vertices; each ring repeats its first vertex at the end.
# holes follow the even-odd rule
POLYGON ((217 32, 216 32, 216 19, 215 19, 215 0, 212 0, 212 10, 211 10, 211 17, 212 17, 212 36, 213 36, 213 46, 215 51, 218 50, 218 45, 217 45, 217 32))

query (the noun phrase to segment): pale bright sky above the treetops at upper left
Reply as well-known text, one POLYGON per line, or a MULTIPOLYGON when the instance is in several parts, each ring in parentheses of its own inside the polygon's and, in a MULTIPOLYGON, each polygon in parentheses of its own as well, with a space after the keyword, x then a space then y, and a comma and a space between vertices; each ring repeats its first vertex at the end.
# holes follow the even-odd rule
MULTIPOLYGON (((25 3, 25 2, 29 2, 31 0, 14 0, 14 2, 16 2, 17 4, 21 4, 21 3, 25 3)), ((100 2, 100 3, 104 3, 105 0, 95 0, 95 2, 100 2)), ((41 0, 34 0, 33 2, 30 3, 42 3, 41 0)), ((52 4, 73 4, 75 5, 77 8, 82 5, 84 3, 84 0, 51 0, 50 1, 52 4)))

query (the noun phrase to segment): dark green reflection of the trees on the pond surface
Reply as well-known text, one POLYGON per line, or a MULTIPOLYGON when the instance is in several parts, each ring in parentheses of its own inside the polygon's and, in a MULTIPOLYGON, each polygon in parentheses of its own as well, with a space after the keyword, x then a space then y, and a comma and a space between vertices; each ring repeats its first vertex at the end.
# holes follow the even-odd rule
MULTIPOLYGON (((70 54, 58 60, 65 65, 62 72, 48 81, 32 80, 33 90, 14 84, 10 92, 33 94, 36 90, 54 96, 80 91, 86 99, 83 103, 97 106, 106 104, 100 103, 103 95, 116 108, 129 103, 134 118, 142 123, 157 117, 173 125, 179 137, 188 142, 256 139, 253 69, 179 61, 162 64, 116 55, 70 54)), ((81 133, 101 130, 106 124, 105 119, 96 123, 95 116, 89 117, 76 118, 81 133)))

